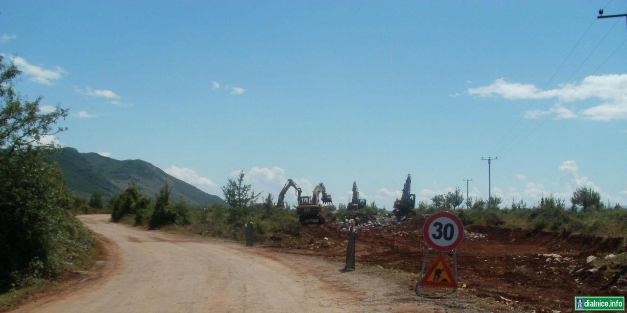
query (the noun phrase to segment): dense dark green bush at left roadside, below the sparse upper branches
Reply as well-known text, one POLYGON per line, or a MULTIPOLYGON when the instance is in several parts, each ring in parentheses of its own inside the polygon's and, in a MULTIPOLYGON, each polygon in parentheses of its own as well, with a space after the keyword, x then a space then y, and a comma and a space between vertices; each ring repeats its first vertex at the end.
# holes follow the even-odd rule
POLYGON ((92 232, 68 210, 58 165, 34 152, 1 163, 0 291, 57 279, 93 247, 92 232))

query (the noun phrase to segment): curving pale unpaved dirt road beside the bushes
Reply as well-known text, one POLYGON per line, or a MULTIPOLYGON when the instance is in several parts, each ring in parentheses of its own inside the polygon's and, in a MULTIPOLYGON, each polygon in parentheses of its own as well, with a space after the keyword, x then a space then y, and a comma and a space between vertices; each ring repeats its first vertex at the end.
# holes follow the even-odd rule
POLYGON ((319 257, 81 220, 109 241, 102 278, 14 312, 475 312, 319 257))

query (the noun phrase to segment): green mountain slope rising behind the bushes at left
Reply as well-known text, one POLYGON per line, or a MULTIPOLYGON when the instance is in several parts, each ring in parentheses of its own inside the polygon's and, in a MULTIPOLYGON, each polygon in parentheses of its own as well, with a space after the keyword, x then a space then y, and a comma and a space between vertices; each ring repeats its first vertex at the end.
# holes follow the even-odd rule
POLYGON ((107 198, 115 197, 134 182, 140 192, 154 198, 167 182, 172 188, 173 200, 200 206, 226 205, 220 197, 209 195, 142 160, 120 161, 98 153, 81 153, 75 148, 63 148, 50 158, 61 165, 70 192, 80 197, 87 198, 95 192, 107 198))

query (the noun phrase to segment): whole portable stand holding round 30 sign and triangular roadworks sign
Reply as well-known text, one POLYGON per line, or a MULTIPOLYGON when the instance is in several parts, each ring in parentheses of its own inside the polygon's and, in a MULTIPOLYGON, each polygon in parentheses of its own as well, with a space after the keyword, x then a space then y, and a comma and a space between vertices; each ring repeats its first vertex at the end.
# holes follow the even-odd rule
POLYGON ((464 226, 461 220, 449 212, 438 212, 431 215, 423 225, 424 243, 427 250, 424 253, 423 266, 420 269, 418 282, 414 292, 420 295, 420 286, 450 287, 455 289, 455 297, 459 294, 457 273, 457 248, 464 238, 464 226), (431 265, 427 274, 424 269, 429 256, 429 250, 440 252, 435 263, 431 265), (453 252, 453 272, 446 263, 444 255, 453 252))

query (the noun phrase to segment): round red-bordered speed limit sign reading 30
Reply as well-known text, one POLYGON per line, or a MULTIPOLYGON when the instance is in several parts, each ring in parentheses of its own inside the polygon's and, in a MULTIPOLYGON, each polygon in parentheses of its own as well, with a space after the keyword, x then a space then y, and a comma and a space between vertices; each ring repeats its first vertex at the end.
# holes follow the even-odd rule
POLYGON ((452 213, 438 212, 424 221, 423 238, 431 249, 448 252, 460 246, 464 225, 452 213))

